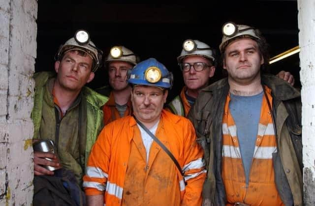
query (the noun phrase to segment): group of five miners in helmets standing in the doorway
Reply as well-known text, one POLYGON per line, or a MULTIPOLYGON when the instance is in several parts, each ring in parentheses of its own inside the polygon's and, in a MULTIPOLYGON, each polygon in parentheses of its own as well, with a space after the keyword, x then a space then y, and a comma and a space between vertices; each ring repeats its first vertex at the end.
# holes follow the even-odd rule
POLYGON ((34 150, 33 205, 303 206, 300 92, 289 72, 268 74, 268 48, 232 22, 221 57, 185 40, 185 86, 167 101, 163 63, 122 45, 103 55, 78 30, 55 71, 33 76, 33 142, 56 150, 34 150), (93 90, 101 66, 109 79, 93 90), (210 84, 218 68, 226 77, 210 84))

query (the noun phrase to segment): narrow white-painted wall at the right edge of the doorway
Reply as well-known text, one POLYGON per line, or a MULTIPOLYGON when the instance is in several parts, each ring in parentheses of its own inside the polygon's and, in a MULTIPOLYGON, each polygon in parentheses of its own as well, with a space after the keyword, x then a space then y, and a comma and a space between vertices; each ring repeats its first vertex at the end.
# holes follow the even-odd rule
POLYGON ((315 0, 298 0, 304 203, 315 205, 315 0))

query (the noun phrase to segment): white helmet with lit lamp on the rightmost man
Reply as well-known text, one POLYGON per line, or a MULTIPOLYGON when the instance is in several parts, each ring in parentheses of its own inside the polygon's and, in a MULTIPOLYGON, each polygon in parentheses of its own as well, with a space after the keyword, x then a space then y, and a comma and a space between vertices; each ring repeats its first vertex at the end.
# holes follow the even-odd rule
POLYGON ((233 22, 227 22, 222 26, 222 35, 222 41, 219 46, 221 52, 223 52, 226 46, 233 40, 239 38, 261 39, 261 34, 258 29, 247 25, 236 25, 233 22))

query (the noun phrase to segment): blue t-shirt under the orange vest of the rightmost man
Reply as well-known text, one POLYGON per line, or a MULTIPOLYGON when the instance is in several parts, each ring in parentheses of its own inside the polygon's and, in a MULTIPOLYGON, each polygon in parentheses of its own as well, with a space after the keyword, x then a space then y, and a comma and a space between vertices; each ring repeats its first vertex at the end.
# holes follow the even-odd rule
POLYGON ((254 96, 237 96, 230 94, 229 110, 237 128, 246 185, 252 165, 252 156, 258 132, 263 92, 254 96))

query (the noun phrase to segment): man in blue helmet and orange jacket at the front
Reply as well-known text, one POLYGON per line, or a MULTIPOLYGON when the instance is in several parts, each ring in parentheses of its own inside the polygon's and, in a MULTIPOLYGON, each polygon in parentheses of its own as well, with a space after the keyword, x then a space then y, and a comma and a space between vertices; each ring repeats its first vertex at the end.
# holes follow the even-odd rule
POLYGON ((172 74, 154 58, 129 73, 133 116, 101 131, 84 176, 88 205, 201 205, 203 152, 190 121, 163 110, 172 74))

